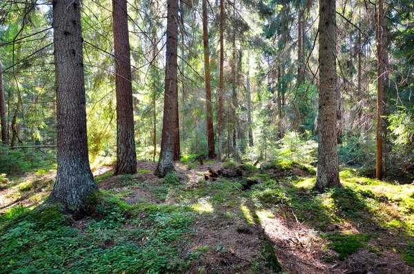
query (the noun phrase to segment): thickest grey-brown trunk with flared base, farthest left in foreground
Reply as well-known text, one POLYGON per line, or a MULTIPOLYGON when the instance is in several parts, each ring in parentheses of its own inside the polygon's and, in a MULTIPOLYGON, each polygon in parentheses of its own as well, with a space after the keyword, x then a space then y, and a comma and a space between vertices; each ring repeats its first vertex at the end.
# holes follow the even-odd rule
POLYGON ((53 2, 57 175, 49 199, 79 208, 97 185, 88 159, 81 1, 53 2))

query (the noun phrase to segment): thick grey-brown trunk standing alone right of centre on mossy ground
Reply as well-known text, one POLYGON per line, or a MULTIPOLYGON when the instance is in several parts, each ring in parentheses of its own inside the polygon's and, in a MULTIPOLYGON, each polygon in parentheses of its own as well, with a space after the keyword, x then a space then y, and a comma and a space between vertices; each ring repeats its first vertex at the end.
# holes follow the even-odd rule
POLYGON ((315 188, 341 186, 337 155, 335 0, 319 0, 319 140, 315 188))

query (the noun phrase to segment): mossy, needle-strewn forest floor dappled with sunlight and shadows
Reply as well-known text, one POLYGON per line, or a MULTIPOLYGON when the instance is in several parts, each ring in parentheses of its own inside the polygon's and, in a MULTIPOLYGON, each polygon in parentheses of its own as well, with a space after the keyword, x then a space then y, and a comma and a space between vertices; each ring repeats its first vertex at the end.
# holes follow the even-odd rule
POLYGON ((0 177, 0 273, 414 273, 414 183, 345 168, 317 193, 286 160, 138 168, 94 170, 103 197, 77 217, 43 204, 54 171, 0 177))

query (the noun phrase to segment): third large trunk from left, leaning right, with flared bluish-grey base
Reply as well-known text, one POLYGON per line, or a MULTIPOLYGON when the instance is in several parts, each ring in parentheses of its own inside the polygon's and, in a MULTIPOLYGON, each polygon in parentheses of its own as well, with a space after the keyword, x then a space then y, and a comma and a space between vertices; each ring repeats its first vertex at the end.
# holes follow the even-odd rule
POLYGON ((178 0, 167 0, 166 90, 162 121, 161 152, 155 174, 164 177, 174 168, 175 115, 177 115, 178 0))

